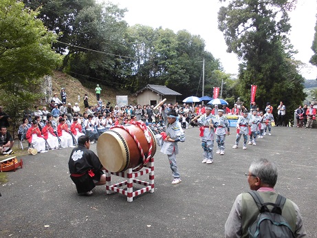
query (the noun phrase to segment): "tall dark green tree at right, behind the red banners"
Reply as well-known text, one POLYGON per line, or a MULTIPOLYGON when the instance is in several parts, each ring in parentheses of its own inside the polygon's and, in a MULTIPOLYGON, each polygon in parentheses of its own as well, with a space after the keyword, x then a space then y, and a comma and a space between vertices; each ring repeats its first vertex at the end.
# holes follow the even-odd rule
POLYGON ((237 0, 219 10, 219 30, 228 52, 243 61, 239 67, 239 96, 248 104, 250 85, 258 85, 256 102, 261 108, 265 102, 276 107, 283 100, 293 111, 305 98, 298 62, 292 60, 296 52, 287 39, 291 28, 288 12, 295 4, 296 0, 237 0))

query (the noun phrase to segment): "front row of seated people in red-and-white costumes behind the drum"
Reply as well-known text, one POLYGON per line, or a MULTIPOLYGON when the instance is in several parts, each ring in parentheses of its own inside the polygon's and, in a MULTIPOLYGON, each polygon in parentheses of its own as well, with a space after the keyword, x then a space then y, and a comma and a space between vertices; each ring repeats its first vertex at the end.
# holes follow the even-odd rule
MULTIPOLYGON (((53 120, 52 115, 47 115, 47 121, 41 122, 39 116, 35 116, 32 123, 29 124, 28 118, 23 118, 23 124, 19 127, 19 140, 28 140, 30 145, 37 151, 45 151, 48 145, 50 149, 73 147, 77 143, 79 136, 87 135, 91 143, 96 142, 98 137, 109 130, 113 125, 126 125, 135 121, 132 116, 131 120, 116 120, 113 122, 109 115, 105 117, 99 115, 98 118, 92 115, 84 115, 83 118, 74 117, 69 122, 67 115, 63 114, 58 118, 58 125, 53 120)), ((157 134, 164 131, 163 123, 149 123, 149 128, 157 134)))

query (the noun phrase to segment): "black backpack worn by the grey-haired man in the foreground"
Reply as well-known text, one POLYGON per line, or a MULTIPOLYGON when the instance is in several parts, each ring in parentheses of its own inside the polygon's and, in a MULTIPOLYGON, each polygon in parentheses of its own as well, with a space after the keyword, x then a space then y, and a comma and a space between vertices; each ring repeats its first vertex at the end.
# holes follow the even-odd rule
POLYGON ((275 204, 264 202, 262 197, 256 191, 248 192, 253 197, 260 213, 252 226, 249 227, 249 237, 294 237, 291 226, 282 216, 282 209, 286 198, 278 195, 275 204), (273 206, 272 210, 267 205, 273 206))

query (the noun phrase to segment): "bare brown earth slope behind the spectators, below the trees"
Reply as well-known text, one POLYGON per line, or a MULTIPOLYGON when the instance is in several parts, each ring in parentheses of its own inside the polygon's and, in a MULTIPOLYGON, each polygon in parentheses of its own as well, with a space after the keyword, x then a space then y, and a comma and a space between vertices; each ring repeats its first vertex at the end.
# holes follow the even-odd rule
POLYGON ((78 102, 80 110, 82 110, 84 109, 83 96, 85 94, 88 94, 89 105, 96 104, 97 101, 95 88, 97 84, 99 84, 102 88, 100 98, 105 104, 107 102, 111 102, 111 106, 114 107, 116 105, 117 95, 127 95, 129 104, 135 105, 138 102, 137 97, 131 96, 131 93, 129 91, 125 91, 123 89, 109 88, 107 87, 107 85, 102 85, 99 81, 96 81, 96 83, 94 83, 87 80, 78 80, 60 71, 54 71, 52 75, 52 94, 57 93, 58 98, 61 99, 61 88, 64 87, 67 94, 67 103, 70 102, 72 103, 72 106, 74 106, 75 102, 78 102), (80 97, 79 101, 78 96, 80 97))

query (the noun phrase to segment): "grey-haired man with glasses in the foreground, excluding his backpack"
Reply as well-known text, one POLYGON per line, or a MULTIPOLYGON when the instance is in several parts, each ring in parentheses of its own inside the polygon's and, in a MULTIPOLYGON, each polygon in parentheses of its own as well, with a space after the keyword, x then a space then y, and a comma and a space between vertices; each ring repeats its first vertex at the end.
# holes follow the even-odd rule
MULTIPOLYGON (((276 202, 278 193, 274 190, 277 181, 278 169, 273 162, 267 159, 256 159, 248 173, 248 183, 251 190, 259 192, 264 202, 276 202)), ((252 226, 260 211, 250 193, 241 193, 237 196, 225 225, 225 237, 249 237, 248 228, 252 226)), ((286 199, 282 209, 282 216, 292 228, 294 237, 306 237, 303 219, 298 206, 286 199)))

